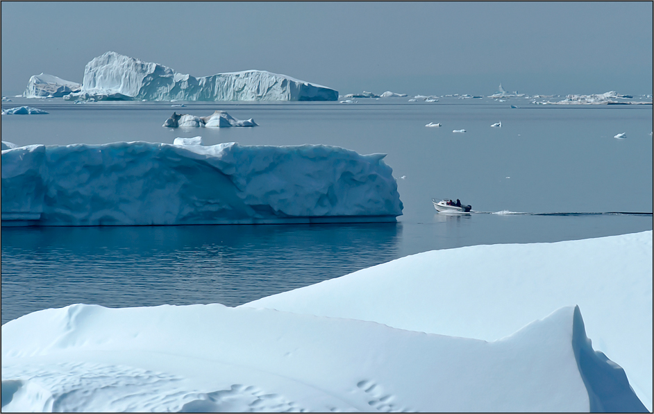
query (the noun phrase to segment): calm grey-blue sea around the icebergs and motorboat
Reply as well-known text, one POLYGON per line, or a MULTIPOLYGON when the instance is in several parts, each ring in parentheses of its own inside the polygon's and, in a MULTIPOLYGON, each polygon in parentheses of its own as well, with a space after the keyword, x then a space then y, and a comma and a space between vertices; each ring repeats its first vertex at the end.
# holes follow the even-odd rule
POLYGON ((328 144, 386 153, 404 215, 398 223, 357 225, 3 227, 2 323, 80 302, 235 306, 427 250, 653 228, 651 105, 387 98, 171 107, 12 99, 3 109, 30 105, 49 112, 2 117, 3 141, 19 145, 172 143, 201 135, 205 145, 328 144), (205 116, 214 110, 260 126, 161 126, 173 111, 205 116), (498 121, 502 128, 490 127, 498 121), (425 128, 429 122, 443 126, 425 128), (619 132, 627 139, 614 139, 619 132), (481 213, 439 215, 431 198, 460 198, 481 213))

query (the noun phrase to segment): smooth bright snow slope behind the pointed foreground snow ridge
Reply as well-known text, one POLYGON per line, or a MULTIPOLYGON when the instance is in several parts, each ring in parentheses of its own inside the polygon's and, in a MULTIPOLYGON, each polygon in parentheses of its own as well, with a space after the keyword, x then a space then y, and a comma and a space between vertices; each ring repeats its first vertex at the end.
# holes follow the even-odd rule
POLYGON ((652 410, 652 231, 435 250, 255 300, 261 307, 499 340, 578 304, 589 337, 652 410))

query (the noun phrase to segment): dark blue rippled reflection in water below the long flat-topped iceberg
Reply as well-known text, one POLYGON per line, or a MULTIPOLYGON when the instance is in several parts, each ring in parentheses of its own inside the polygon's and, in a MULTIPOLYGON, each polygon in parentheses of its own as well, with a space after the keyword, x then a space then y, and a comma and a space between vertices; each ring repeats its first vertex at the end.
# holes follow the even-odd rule
POLYGON ((2 323, 72 303, 236 306, 395 259, 402 227, 213 225, 2 230, 2 323))

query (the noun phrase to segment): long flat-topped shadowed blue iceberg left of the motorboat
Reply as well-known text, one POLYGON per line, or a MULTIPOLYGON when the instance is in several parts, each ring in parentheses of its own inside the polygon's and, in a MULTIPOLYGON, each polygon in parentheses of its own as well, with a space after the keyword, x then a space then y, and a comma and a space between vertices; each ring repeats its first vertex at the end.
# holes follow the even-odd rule
POLYGON ((2 225, 395 221, 384 154, 117 142, 2 151, 2 225))

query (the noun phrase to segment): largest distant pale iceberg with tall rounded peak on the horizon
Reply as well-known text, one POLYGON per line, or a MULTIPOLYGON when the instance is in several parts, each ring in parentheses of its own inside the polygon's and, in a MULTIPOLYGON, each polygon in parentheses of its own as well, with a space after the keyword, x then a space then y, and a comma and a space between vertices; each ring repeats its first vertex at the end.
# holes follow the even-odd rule
POLYGON ((80 92, 65 99, 146 101, 336 101, 338 92, 268 71, 196 78, 158 63, 107 52, 86 64, 80 92))

